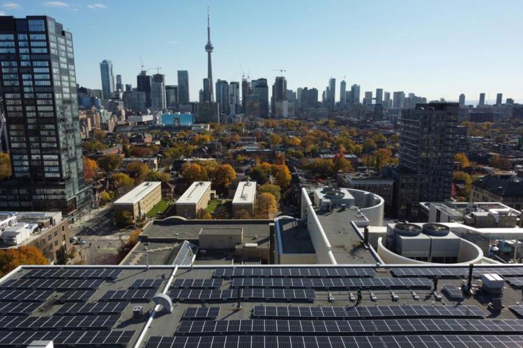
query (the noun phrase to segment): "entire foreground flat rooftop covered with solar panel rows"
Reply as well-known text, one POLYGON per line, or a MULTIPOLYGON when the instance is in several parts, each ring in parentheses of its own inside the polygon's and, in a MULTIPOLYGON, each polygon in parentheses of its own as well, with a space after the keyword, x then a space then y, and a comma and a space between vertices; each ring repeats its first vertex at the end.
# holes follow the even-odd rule
POLYGON ((55 347, 523 345, 515 337, 523 333, 521 264, 475 267, 473 295, 459 290, 467 267, 358 266, 19 267, 0 279, 3 299, 17 299, 0 304, 0 345, 44 338, 55 347), (499 311, 481 289, 486 273, 504 278, 499 311), (151 301, 158 293, 172 300, 171 313, 151 301), (135 306, 142 310, 134 314, 135 306))

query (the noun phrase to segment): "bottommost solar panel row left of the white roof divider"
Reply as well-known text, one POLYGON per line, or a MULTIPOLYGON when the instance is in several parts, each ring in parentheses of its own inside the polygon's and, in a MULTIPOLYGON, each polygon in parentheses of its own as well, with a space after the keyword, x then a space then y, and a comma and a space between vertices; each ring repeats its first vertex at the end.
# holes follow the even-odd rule
POLYGON ((0 345, 26 346, 33 340, 52 340, 54 346, 127 347, 135 331, 12 331, 0 335, 0 345))

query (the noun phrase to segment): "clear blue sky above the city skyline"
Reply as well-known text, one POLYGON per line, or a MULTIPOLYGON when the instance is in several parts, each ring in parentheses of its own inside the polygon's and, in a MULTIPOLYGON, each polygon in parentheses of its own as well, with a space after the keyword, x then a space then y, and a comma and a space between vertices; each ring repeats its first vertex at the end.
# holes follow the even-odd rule
POLYGON ((110 59, 136 86, 140 57, 167 84, 188 70, 190 98, 206 76, 206 7, 211 9, 214 79, 242 69, 287 88, 327 86, 328 78, 365 90, 404 90, 429 99, 477 102, 496 93, 523 102, 523 1, 0 0, 5 15, 47 13, 73 33, 77 81, 100 88, 110 59))

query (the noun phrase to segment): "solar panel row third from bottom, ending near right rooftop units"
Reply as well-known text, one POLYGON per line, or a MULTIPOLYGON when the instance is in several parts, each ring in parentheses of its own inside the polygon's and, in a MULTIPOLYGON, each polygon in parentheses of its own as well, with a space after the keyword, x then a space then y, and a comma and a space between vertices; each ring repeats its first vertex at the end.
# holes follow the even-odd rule
POLYGON ((476 306, 354 306, 354 307, 300 307, 300 306, 255 306, 255 318, 293 319, 350 319, 350 318, 395 318, 395 317, 469 317, 483 318, 485 313, 476 306))

